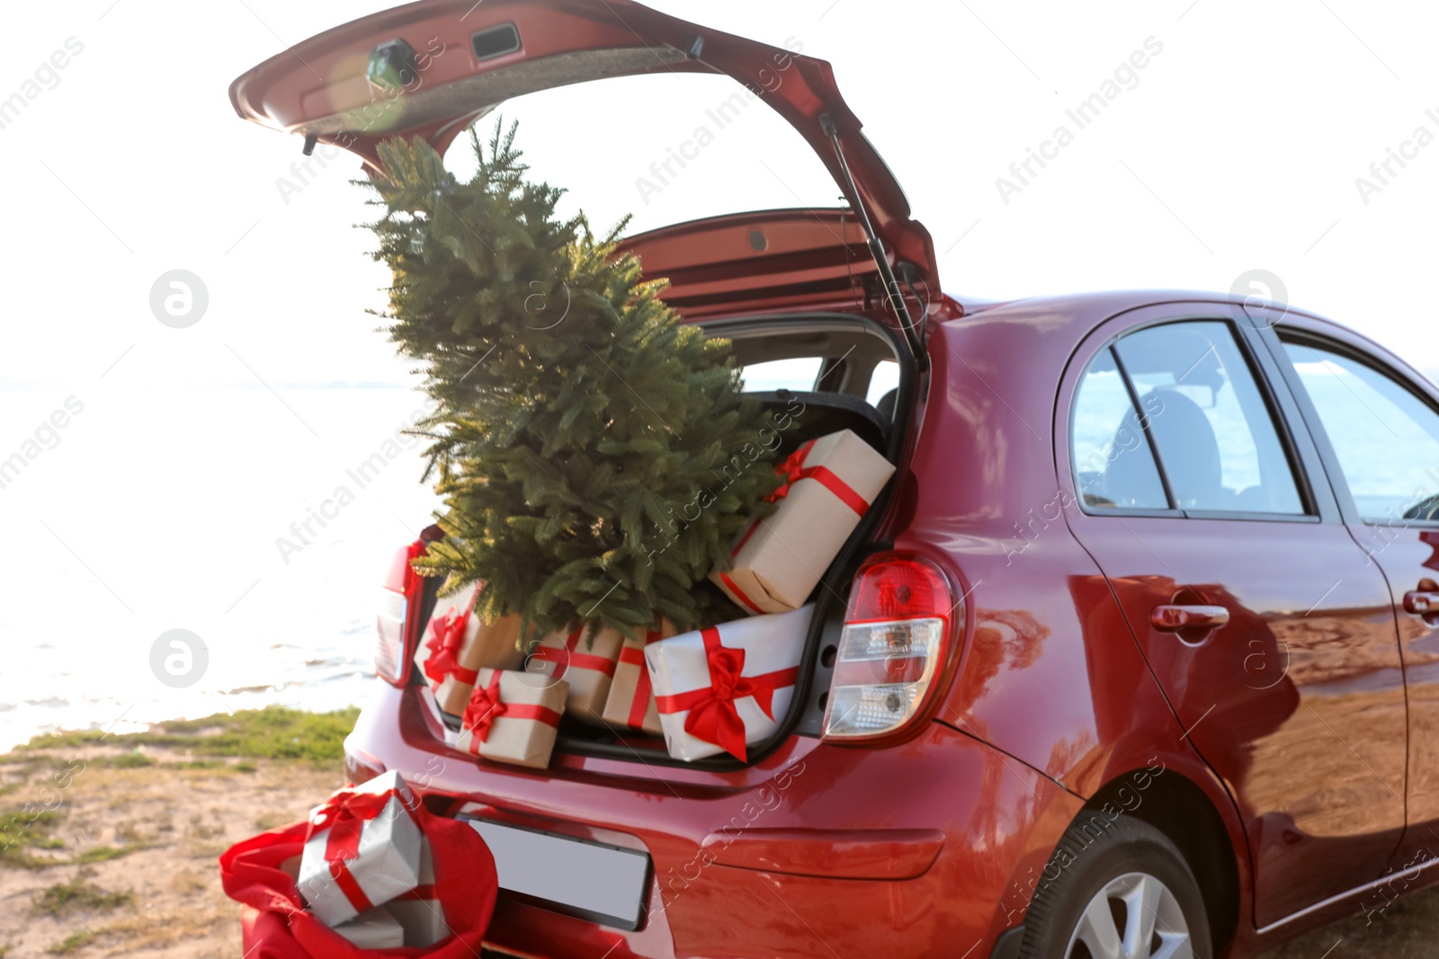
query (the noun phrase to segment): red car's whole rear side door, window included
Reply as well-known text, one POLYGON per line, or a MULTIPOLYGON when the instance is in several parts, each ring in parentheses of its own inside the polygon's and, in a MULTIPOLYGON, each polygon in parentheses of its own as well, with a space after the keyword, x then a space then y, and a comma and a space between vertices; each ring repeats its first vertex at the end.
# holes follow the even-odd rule
POLYGON ((1109 321, 1071 364, 1058 453, 1073 533, 1236 801, 1265 927, 1383 874, 1406 715, 1384 578, 1256 344, 1223 306, 1109 321))

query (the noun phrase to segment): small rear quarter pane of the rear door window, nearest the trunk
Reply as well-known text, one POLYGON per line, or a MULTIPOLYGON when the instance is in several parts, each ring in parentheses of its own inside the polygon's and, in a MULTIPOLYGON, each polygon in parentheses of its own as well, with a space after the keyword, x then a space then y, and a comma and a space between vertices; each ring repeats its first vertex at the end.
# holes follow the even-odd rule
POLYGON ((1168 509, 1154 453, 1109 348, 1079 380, 1069 440, 1075 489, 1085 506, 1168 509))

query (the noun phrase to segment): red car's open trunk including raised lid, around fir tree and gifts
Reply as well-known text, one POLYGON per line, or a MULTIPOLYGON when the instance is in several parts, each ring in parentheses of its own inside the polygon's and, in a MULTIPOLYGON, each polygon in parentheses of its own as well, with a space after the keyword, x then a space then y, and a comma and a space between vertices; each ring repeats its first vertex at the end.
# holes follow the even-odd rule
MULTIPOLYGON (((230 99, 242 118, 304 138, 307 152, 334 144, 383 175, 378 145, 396 135, 423 138, 443 152, 514 98, 573 85, 589 91, 610 78, 669 82, 694 73, 728 78, 735 91, 770 106, 819 158, 846 206, 689 220, 630 236, 622 250, 639 256, 648 277, 669 280, 663 298, 686 322, 732 339, 740 365, 816 362, 807 382, 761 394, 776 410, 803 407, 784 433, 781 456, 849 428, 899 467, 814 591, 793 706, 768 743, 751 746, 753 763, 796 732, 820 730, 826 661, 850 578, 899 512, 895 490, 905 487, 904 457, 928 365, 924 324, 960 313, 953 300, 931 293, 938 276, 930 234, 861 132, 830 65, 632 0, 420 0, 296 43, 237 78, 230 99), (869 394, 878 370, 894 372, 885 397, 869 394)), ((425 617, 437 585, 426 582, 425 617)), ((458 725, 455 717, 445 722, 458 725)), ((669 762, 656 738, 622 738, 568 719, 560 732, 560 756, 669 762)), ((692 765, 735 763, 725 756, 692 765)))

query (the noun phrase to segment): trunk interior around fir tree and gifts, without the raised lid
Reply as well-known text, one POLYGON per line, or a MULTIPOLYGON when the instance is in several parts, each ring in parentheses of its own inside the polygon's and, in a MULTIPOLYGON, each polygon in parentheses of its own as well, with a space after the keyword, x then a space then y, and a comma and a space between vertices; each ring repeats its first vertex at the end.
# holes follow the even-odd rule
MULTIPOLYGON (((843 211, 833 213, 836 221, 843 216, 843 211)), ((901 362, 904 345, 892 326, 875 316, 884 309, 882 300, 866 296, 865 288, 873 277, 873 269, 868 270, 868 277, 865 270, 855 270, 850 276, 845 270, 840 250, 825 243, 806 246, 806 236, 813 240, 816 233, 793 211, 727 217, 721 223, 686 224, 663 233, 663 237, 632 237, 626 246, 643 252, 646 272, 652 263, 658 263, 658 269, 671 277, 672 285, 665 298, 686 319, 699 313, 694 322, 707 334, 731 339, 735 359, 744 368, 760 364, 790 364, 800 368, 800 380, 783 385, 755 384, 777 388, 751 391, 767 408, 777 414, 787 413, 794 420, 783 433, 778 457, 819 436, 852 430, 901 466, 812 594, 814 615, 790 712, 781 717, 778 730, 768 742, 750 748, 748 763, 754 765, 763 762, 791 735, 820 733, 829 690, 829 663, 843 625, 853 571, 865 556, 886 545, 892 525, 898 499, 894 490, 902 485, 905 440, 911 434, 918 405, 918 377, 901 362), (753 253, 747 239, 751 230, 766 230, 774 237, 770 247, 774 259, 744 254, 744 250, 753 253), (732 243, 722 243, 725 236, 732 243), (732 247, 728 253, 735 253, 734 259, 728 257, 727 246, 732 247), (686 252, 702 254, 705 262, 686 257, 686 252), (740 269, 738 263, 745 262, 748 267, 740 269), (780 302, 784 309, 750 311, 760 298, 764 302, 780 302), (888 380, 876 385, 876 380, 886 371, 885 364, 895 374, 894 387, 888 390, 884 390, 888 380), (879 390, 882 393, 876 393, 879 390)), ((827 231, 825 236, 830 237, 827 231)), ((429 618, 439 588, 439 581, 426 581, 420 623, 429 618)), ((420 670, 412 671, 412 682, 423 684, 420 670)), ((459 717, 440 713, 433 706, 433 697, 420 696, 413 702, 416 709, 429 707, 432 719, 439 720, 429 723, 430 729, 437 730, 443 723, 452 732, 459 730, 459 717)), ((606 756, 649 765, 679 763, 665 752, 662 738, 630 729, 616 732, 571 717, 561 722, 555 762, 563 762, 566 755, 606 756)), ((682 765, 724 771, 741 763, 722 755, 682 765)))

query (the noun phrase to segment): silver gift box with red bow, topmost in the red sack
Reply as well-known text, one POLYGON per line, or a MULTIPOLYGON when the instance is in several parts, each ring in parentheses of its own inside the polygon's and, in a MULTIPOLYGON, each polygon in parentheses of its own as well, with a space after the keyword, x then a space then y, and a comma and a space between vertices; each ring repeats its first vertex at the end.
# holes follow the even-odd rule
POLYGON ((386 772, 311 812, 296 886, 317 919, 338 926, 419 884, 417 802, 386 772))

